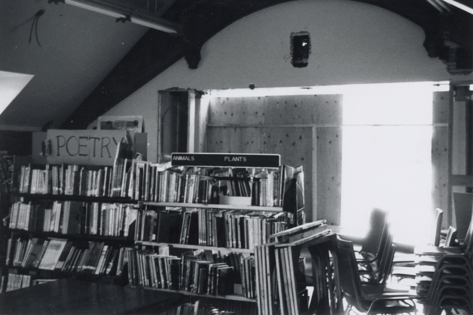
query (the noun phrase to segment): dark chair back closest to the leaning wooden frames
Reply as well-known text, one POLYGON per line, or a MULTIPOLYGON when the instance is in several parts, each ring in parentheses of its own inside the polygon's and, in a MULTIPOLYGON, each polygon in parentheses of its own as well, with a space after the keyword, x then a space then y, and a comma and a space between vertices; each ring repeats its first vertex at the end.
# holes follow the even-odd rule
POLYGON ((358 275, 353 243, 344 241, 337 236, 337 263, 340 274, 340 284, 347 302, 363 311, 361 304, 361 283, 358 275))

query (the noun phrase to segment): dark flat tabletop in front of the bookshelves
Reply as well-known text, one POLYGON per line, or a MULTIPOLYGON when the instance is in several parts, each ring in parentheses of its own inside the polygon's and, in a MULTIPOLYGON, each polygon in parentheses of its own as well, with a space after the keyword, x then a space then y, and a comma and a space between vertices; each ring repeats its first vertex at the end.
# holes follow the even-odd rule
POLYGON ((1 314, 156 314, 182 295, 60 279, 0 294, 1 314))

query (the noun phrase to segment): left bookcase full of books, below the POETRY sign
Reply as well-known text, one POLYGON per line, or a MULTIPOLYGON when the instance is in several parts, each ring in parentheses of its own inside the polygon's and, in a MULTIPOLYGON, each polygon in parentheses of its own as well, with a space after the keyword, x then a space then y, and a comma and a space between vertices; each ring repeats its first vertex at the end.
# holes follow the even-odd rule
POLYGON ((113 166, 32 162, 14 157, 9 205, 2 216, 7 235, 1 291, 64 278, 125 284, 121 256, 133 239, 127 233, 130 224, 111 213, 123 207, 138 211, 138 205, 106 193, 113 166), (82 172, 74 174, 74 169, 82 172), (110 172, 108 177, 101 176, 104 172, 110 172), (87 191, 75 191, 76 180, 85 180, 87 191))

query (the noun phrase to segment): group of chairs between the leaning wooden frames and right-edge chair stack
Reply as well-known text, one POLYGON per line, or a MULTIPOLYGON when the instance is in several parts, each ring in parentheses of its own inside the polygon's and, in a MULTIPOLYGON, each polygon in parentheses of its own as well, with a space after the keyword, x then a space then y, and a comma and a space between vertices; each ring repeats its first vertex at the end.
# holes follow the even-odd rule
POLYGON ((388 223, 388 213, 374 208, 369 230, 361 250, 356 252, 353 243, 338 237, 337 263, 343 295, 348 307, 368 314, 416 313, 413 301, 418 296, 408 293, 409 288, 390 288, 390 276, 395 253, 393 234, 388 223), (358 257, 357 257, 358 256, 358 257))

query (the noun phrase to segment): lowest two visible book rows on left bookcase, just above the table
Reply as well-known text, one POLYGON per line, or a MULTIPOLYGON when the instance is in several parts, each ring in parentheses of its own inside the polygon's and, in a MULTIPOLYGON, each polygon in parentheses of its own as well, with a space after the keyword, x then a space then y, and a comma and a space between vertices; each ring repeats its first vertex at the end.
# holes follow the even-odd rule
POLYGON ((0 292, 62 278, 126 284, 122 242, 24 236, 8 240, 0 292))

